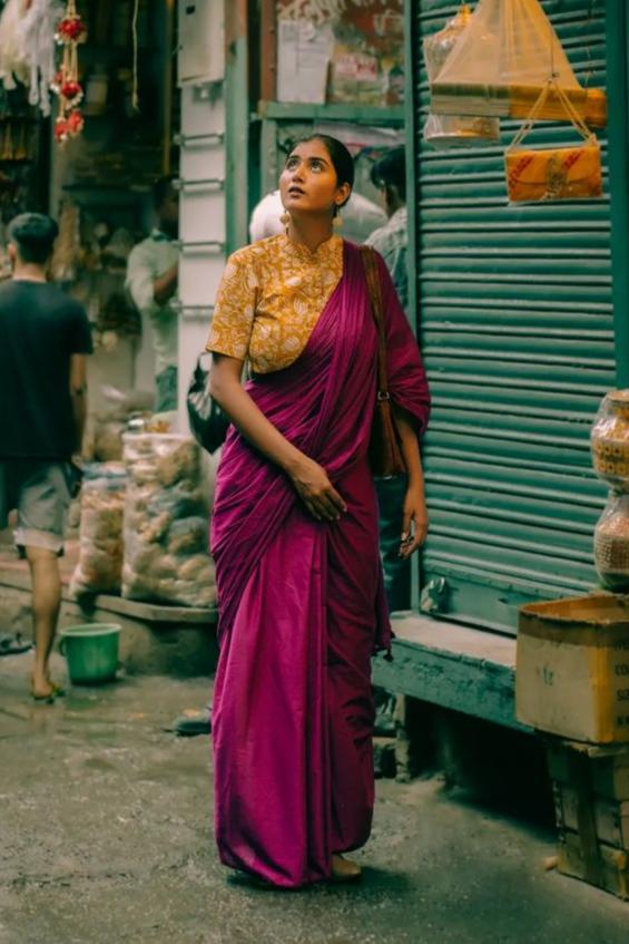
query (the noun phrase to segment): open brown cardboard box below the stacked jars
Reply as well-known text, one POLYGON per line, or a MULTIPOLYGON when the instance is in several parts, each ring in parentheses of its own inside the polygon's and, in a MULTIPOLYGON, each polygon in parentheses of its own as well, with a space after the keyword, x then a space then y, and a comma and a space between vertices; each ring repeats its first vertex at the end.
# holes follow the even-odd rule
POLYGON ((524 724, 571 740, 629 742, 629 597, 523 606, 515 710, 524 724))

